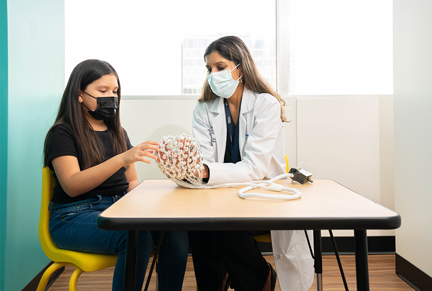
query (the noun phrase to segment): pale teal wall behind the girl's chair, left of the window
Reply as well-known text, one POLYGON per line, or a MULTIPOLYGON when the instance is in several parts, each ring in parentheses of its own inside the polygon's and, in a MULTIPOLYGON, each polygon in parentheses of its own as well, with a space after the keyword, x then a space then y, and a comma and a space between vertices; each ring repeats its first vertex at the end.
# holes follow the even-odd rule
POLYGON ((4 291, 15 291, 49 262, 38 237, 41 167, 45 134, 64 89, 64 2, 9 0, 7 6, 8 166, 2 285, 4 291))

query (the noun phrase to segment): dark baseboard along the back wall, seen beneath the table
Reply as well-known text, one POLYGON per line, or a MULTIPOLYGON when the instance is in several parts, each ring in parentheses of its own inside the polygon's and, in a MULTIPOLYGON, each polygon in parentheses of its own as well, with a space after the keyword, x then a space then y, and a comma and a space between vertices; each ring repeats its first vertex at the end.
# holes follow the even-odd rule
MULTIPOLYGON (((335 236, 337 251, 341 255, 354 255, 354 236, 335 236)), ((311 238, 310 238, 311 239, 311 238)), ((334 254, 330 236, 321 237, 322 254, 334 254)), ((271 243, 261 243, 258 247, 262 253, 272 253, 271 243)), ((368 236, 369 254, 394 254, 396 252, 395 236, 368 236)))

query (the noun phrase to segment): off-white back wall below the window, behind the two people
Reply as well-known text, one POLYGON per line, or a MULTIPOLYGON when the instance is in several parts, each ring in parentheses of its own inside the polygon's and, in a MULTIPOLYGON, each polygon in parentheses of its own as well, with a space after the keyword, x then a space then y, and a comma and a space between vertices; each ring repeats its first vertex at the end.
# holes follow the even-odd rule
MULTIPOLYGON (((392 95, 291 96, 285 148, 290 167, 307 159, 316 179, 332 179, 394 210, 392 95)), ((123 99, 121 116, 132 144, 191 133, 196 96, 123 99)), ((140 180, 164 178, 157 165, 137 164, 140 180)), ((371 230, 368 235, 394 235, 371 230)), ((326 233, 323 233, 326 235, 326 233)), ((335 231, 352 236, 353 231, 335 231)))

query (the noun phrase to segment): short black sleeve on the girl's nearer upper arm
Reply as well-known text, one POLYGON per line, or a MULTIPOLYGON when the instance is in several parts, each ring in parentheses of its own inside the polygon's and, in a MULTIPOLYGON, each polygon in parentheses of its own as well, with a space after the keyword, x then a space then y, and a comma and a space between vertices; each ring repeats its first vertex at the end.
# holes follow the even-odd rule
POLYGON ((78 159, 75 134, 72 128, 59 124, 53 127, 48 137, 48 166, 53 171, 51 161, 60 156, 74 156, 78 159))

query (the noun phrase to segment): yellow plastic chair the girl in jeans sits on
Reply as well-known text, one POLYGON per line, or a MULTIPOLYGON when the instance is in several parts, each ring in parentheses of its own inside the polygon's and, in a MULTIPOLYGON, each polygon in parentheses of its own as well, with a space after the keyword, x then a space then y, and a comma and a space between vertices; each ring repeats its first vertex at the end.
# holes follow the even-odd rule
POLYGON ((81 253, 70 250, 62 250, 54 243, 49 229, 51 217, 48 211, 54 188, 53 172, 48 168, 42 168, 42 203, 39 217, 39 240, 42 249, 47 257, 54 261, 45 271, 40 279, 36 291, 45 291, 50 276, 64 265, 76 267, 76 270, 69 280, 69 291, 76 291, 76 283, 83 272, 92 272, 114 266, 117 255, 100 255, 81 253))

